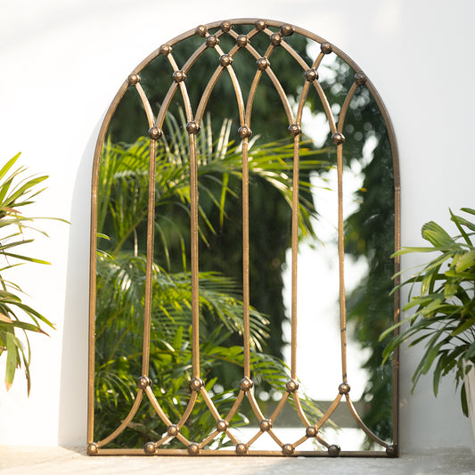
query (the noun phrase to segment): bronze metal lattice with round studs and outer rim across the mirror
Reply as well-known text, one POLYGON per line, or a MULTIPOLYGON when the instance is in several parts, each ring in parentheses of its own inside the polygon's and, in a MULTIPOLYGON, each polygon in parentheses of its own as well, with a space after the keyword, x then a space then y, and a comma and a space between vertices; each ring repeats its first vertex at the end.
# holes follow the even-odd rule
MULTIPOLYGON (((340 452, 340 447, 327 441, 322 435, 323 425, 329 421, 333 412, 340 405, 341 401, 346 401, 349 411, 356 420, 359 427, 364 430, 365 434, 371 438, 375 443, 386 448, 385 452, 372 452, 372 455, 389 456, 397 455, 397 423, 394 427, 394 442, 389 444, 381 438, 373 434, 372 430, 368 429, 362 421, 359 414, 357 414, 356 407, 350 397, 350 386, 348 384, 347 374, 347 321, 346 321, 346 298, 345 298, 345 281, 344 281, 344 218, 343 218, 343 150, 345 146, 345 135, 343 135, 345 119, 348 108, 352 98, 356 94, 358 88, 366 87, 369 89, 373 98, 378 103, 382 118, 386 123, 389 131, 389 141, 391 144, 391 152, 395 163, 395 183, 397 184, 397 150, 390 126, 389 117, 379 99, 378 94, 374 90, 373 85, 364 73, 359 70, 356 65, 348 59, 348 57, 341 53, 338 48, 324 41, 320 37, 316 37, 305 30, 298 29, 289 24, 281 24, 270 20, 233 20, 223 21, 221 23, 212 23, 207 26, 200 26, 194 31, 185 33, 180 37, 176 37, 168 44, 161 45, 160 49, 153 53, 149 58, 143 61, 130 76, 119 90, 111 109, 108 112, 102 131, 99 136, 98 145, 96 148, 94 161, 94 183, 93 183, 93 230, 92 230, 92 258, 91 258, 91 308, 90 308, 90 353, 89 353, 89 414, 88 414, 88 446, 87 453, 89 455, 97 454, 146 454, 146 455, 345 455, 344 447, 340 452), (249 31, 246 34, 238 34, 234 31, 233 26, 242 25, 248 26, 249 31), (312 64, 307 64, 306 61, 297 53, 287 38, 292 34, 303 35, 309 41, 315 42, 319 45, 319 53, 315 57, 312 64), (253 38, 257 35, 265 35, 268 37, 268 46, 265 53, 259 53, 253 47, 253 38), (184 64, 177 64, 174 57, 174 47, 178 45, 185 38, 197 37, 201 38, 201 44, 189 56, 189 59, 184 64), (229 51, 224 51, 221 48, 220 40, 224 37, 231 37, 233 39, 233 47, 229 51), (278 70, 273 70, 273 54, 277 48, 283 48, 286 53, 291 55, 295 60, 296 71, 295 74, 302 78, 301 93, 299 102, 291 104, 289 98, 285 94, 283 85, 278 78, 278 70), (197 59, 207 50, 214 50, 216 52, 216 69, 212 71, 209 82, 206 88, 202 91, 201 99, 198 105, 193 109, 192 100, 188 94, 186 86, 186 78, 192 73, 193 64, 197 59), (233 60, 236 55, 246 50, 255 60, 256 70, 254 78, 250 86, 250 91, 245 98, 242 94, 240 80, 236 71, 233 68, 233 60), (340 109, 338 119, 335 119, 332 112, 332 107, 325 96, 322 86, 319 83, 319 67, 325 55, 337 54, 343 60, 347 61, 351 67, 356 71, 353 85, 349 88, 345 100, 340 109), (145 88, 141 84, 140 73, 141 70, 155 57, 164 56, 167 58, 169 65, 173 70, 171 85, 168 89, 168 94, 160 104, 160 110, 157 114, 152 111, 151 102, 145 92, 145 88), (243 373, 237 397, 233 403, 231 410, 227 414, 220 414, 217 406, 213 403, 209 395, 209 391, 205 387, 205 381, 201 380, 200 368, 200 334, 199 334, 199 196, 198 187, 199 179, 197 173, 197 158, 196 158, 196 136, 199 134, 201 124, 205 113, 211 100, 211 95, 219 78, 227 75, 233 85, 233 95, 235 97, 237 113, 239 116, 239 130, 238 134, 242 139, 242 275, 243 275, 243 373), (299 190, 299 157, 300 157, 300 143, 302 116, 307 103, 307 96, 309 91, 315 89, 321 103, 323 110, 330 127, 330 134, 332 143, 336 147, 337 156, 337 173, 338 173, 338 250, 339 250, 339 268, 340 268, 340 347, 341 347, 341 382, 338 388, 335 388, 335 397, 332 404, 326 412, 316 417, 315 414, 306 414, 300 405, 299 398, 299 376, 297 373, 297 275, 298 275, 298 251, 299 251, 299 192, 293 192, 291 208, 291 364, 290 364, 290 379, 285 384, 282 392, 282 398, 276 405, 272 414, 264 414, 261 410, 258 400, 254 395, 254 381, 252 379, 251 367, 251 352, 250 352, 250 216, 249 216, 249 146, 250 137, 252 135, 252 112, 255 102, 256 94, 258 94, 258 86, 263 76, 266 75, 270 79, 275 91, 279 95, 282 102, 283 111, 288 121, 288 132, 293 141, 293 190, 299 190), (149 168, 149 187, 148 187, 148 225, 147 225, 147 262, 146 262, 146 281, 145 281, 145 296, 144 296, 144 315, 143 315, 143 356, 142 356, 142 376, 140 376, 135 403, 130 407, 130 411, 122 421, 118 421, 117 429, 114 430, 108 437, 102 440, 94 440, 94 315, 95 315, 95 247, 96 247, 96 219, 97 219, 97 176, 98 168, 100 166, 100 156, 102 151, 102 143, 106 134, 107 127, 111 121, 111 116, 114 113, 117 104, 126 90, 136 90, 139 94, 140 100, 143 104, 143 111, 146 115, 149 127, 150 137, 150 168, 149 168), (189 150, 190 150, 190 188, 191 188, 191 274, 192 274, 192 379, 189 381, 190 398, 188 405, 185 407, 181 417, 172 420, 160 405, 160 397, 157 397, 151 385, 151 378, 149 374, 150 353, 151 353, 151 315, 152 315, 152 275, 153 275, 153 254, 154 254, 154 222, 155 222, 155 176, 156 176, 156 150, 157 143, 160 142, 163 127, 166 127, 166 115, 170 107, 170 103, 181 97, 183 102, 184 114, 186 119, 186 130, 189 136, 189 150), (160 418, 160 421, 165 424, 167 431, 156 442, 147 442, 143 449, 121 449, 108 448, 119 434, 126 429, 127 425, 133 420, 135 414, 141 410, 143 399, 148 398, 152 407, 160 418), (244 399, 247 399, 253 414, 258 419, 258 429, 255 434, 247 440, 242 440, 233 433, 231 422, 234 414, 240 409, 244 399), (301 422, 301 437, 291 442, 282 440, 278 437, 276 431, 273 429, 273 422, 278 419, 284 405, 289 404, 289 400, 293 399, 295 410, 299 415, 301 422), (203 436, 202 440, 190 440, 184 436, 182 428, 192 414, 195 405, 206 405, 209 413, 212 414, 216 421, 214 430, 209 434, 203 436), (209 444, 223 433, 232 441, 233 448, 213 451, 209 449, 209 444), (254 442, 263 434, 267 433, 273 440, 275 449, 271 451, 256 451, 253 450, 254 442), (183 448, 166 448, 170 439, 176 438, 182 443, 183 448), (299 446, 307 441, 308 438, 315 438, 325 450, 315 450, 315 452, 308 452, 299 450, 299 446)), ((396 207, 398 207, 398 196, 396 192, 396 207)), ((396 210, 398 216, 398 212, 396 210)), ((396 233, 396 241, 397 241, 396 233)), ((396 242, 397 245, 397 242, 396 242)), ((395 307, 397 308, 397 302, 395 307)), ((397 314, 397 312, 395 312, 397 314)), ((397 366, 397 364, 395 364, 397 366)), ((397 395, 397 378, 394 381, 395 394, 397 395)), ((397 405, 395 406, 397 410, 397 405)), ((397 420, 397 414, 395 419, 397 420)))

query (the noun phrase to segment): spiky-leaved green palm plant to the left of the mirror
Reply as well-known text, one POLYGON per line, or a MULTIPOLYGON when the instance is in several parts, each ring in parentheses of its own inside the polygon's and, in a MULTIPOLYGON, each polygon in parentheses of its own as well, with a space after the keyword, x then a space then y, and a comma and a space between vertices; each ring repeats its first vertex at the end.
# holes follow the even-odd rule
POLYGON ((17 369, 23 365, 27 379, 28 394, 31 388, 29 364, 31 350, 29 346, 29 332, 47 334, 44 326, 53 327, 45 316, 40 315, 35 309, 22 302, 20 286, 4 278, 4 273, 12 267, 20 266, 26 262, 48 264, 44 260, 31 258, 22 253, 22 249, 34 239, 27 237, 32 233, 43 231, 33 227, 34 218, 21 214, 20 209, 33 202, 40 192, 38 185, 45 181, 47 176, 23 177, 26 168, 14 169, 15 163, 20 158, 20 153, 8 160, 0 169, 0 356, 6 354, 5 361, 5 387, 12 387, 17 369), (21 250, 19 251, 18 248, 21 250), (18 337, 22 333, 22 342, 18 337), (26 348, 25 348, 26 343, 26 348))

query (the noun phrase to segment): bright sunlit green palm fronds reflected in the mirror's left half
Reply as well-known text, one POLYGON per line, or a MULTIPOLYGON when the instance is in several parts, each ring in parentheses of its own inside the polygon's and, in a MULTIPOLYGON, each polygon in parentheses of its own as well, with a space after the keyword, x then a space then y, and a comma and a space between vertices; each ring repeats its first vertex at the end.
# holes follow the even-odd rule
MULTIPOLYGON (((192 378, 191 277, 189 266, 189 150, 187 133, 168 118, 168 140, 158 142, 156 159, 155 256, 152 279, 152 340, 150 377, 152 388, 170 420, 184 412, 192 378)), ((229 122, 217 139, 211 127, 201 127, 198 138, 200 180, 199 232, 202 246, 228 224, 227 207, 239 190, 232 181, 242 178, 241 153, 228 142, 229 122), (212 211, 215 211, 213 214, 212 211)), ((143 295, 145 285, 145 222, 148 206, 149 143, 139 138, 131 145, 105 143, 98 185, 98 254, 96 299, 95 434, 110 434, 127 416, 135 397, 136 380, 142 373, 143 295)), ((308 167, 323 166, 315 152, 302 150, 308 167)), ((250 177, 274 187, 286 206, 291 201, 291 145, 271 143, 250 148, 250 177)), ((301 183, 302 189, 309 187, 301 183)), ((300 201, 301 233, 313 234, 311 203, 300 201)), ((233 404, 235 381, 242 375, 242 301, 239 285, 216 272, 200 273, 201 378, 221 414, 233 404), (233 371, 236 368, 236 371, 233 371), (222 378, 227 375, 228 379, 222 378), (219 377, 224 391, 214 394, 219 377)), ((251 370, 256 382, 283 390, 289 375, 284 364, 262 352, 268 338, 268 320, 250 310, 251 370)), ((241 376, 242 377, 242 376, 241 376)), ((315 413, 310 401, 304 403, 315 413)), ((203 405, 201 405, 203 406, 203 405)), ((242 420, 236 414, 234 425, 242 420)), ((196 407, 182 433, 199 438, 214 428, 205 407, 196 407)), ((114 444, 140 446, 157 440, 166 428, 147 401, 127 430, 114 444)), ((176 442, 173 442, 176 443, 176 442)))

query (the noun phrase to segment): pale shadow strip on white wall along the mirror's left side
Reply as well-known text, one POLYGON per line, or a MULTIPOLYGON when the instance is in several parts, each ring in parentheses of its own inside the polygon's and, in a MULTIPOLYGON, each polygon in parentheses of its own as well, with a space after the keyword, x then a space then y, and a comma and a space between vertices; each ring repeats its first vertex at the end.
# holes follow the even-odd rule
POLYGON ((86 446, 91 177, 94 147, 102 120, 103 118, 94 127, 86 144, 72 190, 61 352, 58 422, 60 446, 86 446))

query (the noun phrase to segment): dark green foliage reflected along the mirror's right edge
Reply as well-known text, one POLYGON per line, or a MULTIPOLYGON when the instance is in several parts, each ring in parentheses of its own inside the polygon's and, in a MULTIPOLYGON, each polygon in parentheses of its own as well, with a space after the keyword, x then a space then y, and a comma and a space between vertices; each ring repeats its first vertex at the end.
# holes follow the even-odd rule
MULTIPOLYGON (((323 82, 330 103, 341 105, 354 81, 354 71, 335 61, 334 78, 323 82)), ((368 89, 357 89, 348 110, 343 147, 345 164, 358 163, 364 177, 356 192, 358 208, 345 222, 345 251, 354 258, 365 258, 368 274, 348 296, 348 322, 362 348, 371 354, 364 363, 369 380, 363 398, 367 402, 364 422, 383 439, 392 438, 392 368, 381 367, 384 342, 381 332, 393 322, 394 299, 389 296, 394 264, 394 176, 389 138, 381 113, 368 89), (372 156, 364 157, 364 146, 373 143, 372 156)), ((348 173, 351 173, 348 171, 348 173)))

